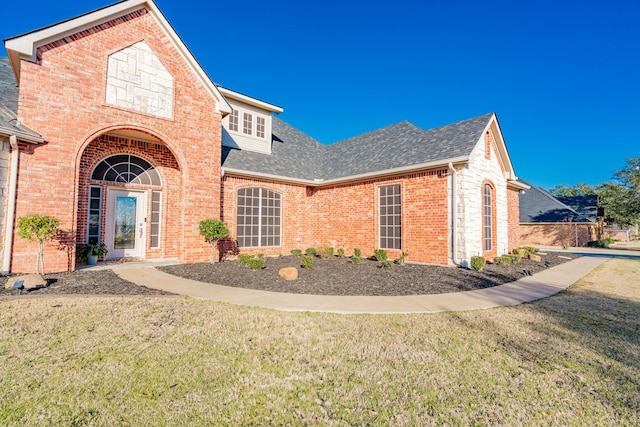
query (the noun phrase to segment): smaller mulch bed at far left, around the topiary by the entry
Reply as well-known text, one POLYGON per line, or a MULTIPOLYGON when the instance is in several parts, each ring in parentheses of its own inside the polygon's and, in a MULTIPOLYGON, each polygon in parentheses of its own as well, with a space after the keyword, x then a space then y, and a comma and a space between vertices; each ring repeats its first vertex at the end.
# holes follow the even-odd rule
MULTIPOLYGON (((79 270, 67 273, 46 274, 44 278, 49 286, 31 291, 23 291, 23 295, 173 295, 169 292, 138 286, 121 279, 111 270, 88 271, 79 270)), ((5 289, 7 277, 0 278, 0 297, 18 295, 18 291, 5 289)))

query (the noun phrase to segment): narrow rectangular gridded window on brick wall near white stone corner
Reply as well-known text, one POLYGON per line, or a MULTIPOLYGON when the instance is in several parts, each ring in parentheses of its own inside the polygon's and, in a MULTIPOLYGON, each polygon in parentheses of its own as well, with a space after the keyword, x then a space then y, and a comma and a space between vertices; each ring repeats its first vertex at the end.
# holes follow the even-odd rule
POLYGON ((402 249, 402 198, 400 184, 378 189, 380 249, 402 249))

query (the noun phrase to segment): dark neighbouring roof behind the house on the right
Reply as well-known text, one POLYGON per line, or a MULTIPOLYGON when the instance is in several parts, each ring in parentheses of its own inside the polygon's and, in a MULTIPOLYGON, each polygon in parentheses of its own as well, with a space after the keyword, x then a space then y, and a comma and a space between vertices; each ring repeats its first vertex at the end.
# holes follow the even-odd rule
MULTIPOLYGON (((531 187, 519 194, 520 223, 593 222, 548 191, 521 179, 518 181, 531 187)), ((595 216, 593 220, 595 221, 595 216)))

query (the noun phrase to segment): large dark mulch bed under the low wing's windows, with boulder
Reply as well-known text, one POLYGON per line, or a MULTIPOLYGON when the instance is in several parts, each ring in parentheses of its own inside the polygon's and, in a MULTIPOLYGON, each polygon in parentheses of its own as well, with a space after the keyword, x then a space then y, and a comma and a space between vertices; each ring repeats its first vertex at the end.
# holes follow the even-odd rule
MULTIPOLYGON (((565 255, 562 255, 565 256, 565 255)), ((576 255, 568 255, 577 258, 576 255)), ((523 259, 510 265, 487 265, 481 272, 455 267, 407 264, 380 268, 376 261, 358 264, 349 258, 331 257, 314 259, 311 270, 299 268, 299 258, 285 256, 267 258, 265 268, 252 271, 238 261, 181 264, 160 269, 176 276, 218 285, 259 289, 272 292, 291 292, 314 295, 426 295, 471 291, 512 282, 524 277, 523 270, 535 274, 547 267, 562 264, 569 259, 548 253, 542 262, 523 259), (299 278, 286 281, 278 276, 283 267, 298 267, 299 278)))

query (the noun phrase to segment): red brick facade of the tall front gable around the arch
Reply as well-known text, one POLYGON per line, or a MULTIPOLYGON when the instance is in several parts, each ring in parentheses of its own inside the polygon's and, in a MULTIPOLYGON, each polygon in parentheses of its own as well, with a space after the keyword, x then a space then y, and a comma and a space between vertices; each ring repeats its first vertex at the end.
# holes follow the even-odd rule
MULTIPOLYGON (((86 223, 85 213, 77 211, 84 203, 81 199, 86 199, 85 190, 77 191, 86 167, 81 162, 83 150, 93 147, 92 141, 108 130, 147 131, 173 154, 181 178, 181 182, 177 177, 167 181, 165 252, 147 255, 175 254, 183 262, 206 261, 209 247, 198 236, 198 222, 220 212, 221 117, 214 100, 151 14, 134 12, 51 43, 38 56, 38 64, 22 62, 19 116, 46 143, 33 149, 21 146, 17 217, 55 215, 61 228, 75 234, 86 223), (105 104, 108 56, 141 40, 174 77, 172 120, 105 104), (171 186, 181 187, 180 191, 172 191, 171 186)), ((88 157, 95 160, 96 156, 88 157)), ((81 241, 84 238, 79 235, 81 241)), ((12 271, 32 271, 35 251, 35 244, 16 237, 12 271)), ((46 248, 45 261, 49 271, 68 268, 67 254, 54 247, 46 248)))

